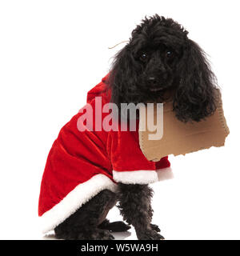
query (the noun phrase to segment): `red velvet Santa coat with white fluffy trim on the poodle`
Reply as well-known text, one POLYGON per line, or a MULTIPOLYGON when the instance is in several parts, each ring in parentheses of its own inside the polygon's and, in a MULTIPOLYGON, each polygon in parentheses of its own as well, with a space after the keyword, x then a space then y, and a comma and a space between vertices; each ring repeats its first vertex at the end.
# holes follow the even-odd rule
MULTIPOLYGON (((96 97, 102 97, 102 106, 110 102, 106 78, 107 75, 87 94, 94 128, 96 97)), ((80 131, 81 112, 62 127, 46 161, 38 204, 43 233, 54 230, 101 190, 116 192, 118 182, 148 184, 172 175, 167 156, 159 162, 145 158, 139 147, 138 130, 80 131)), ((97 112, 97 118, 106 117, 97 112)))

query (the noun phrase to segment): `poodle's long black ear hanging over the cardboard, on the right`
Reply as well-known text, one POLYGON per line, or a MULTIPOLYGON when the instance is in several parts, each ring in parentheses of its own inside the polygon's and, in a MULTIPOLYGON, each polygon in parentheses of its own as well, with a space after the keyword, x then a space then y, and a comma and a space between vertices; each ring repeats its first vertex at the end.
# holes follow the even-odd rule
POLYGON ((187 39, 178 66, 179 85, 174 95, 174 111, 182 122, 196 121, 213 114, 217 107, 217 86, 206 54, 187 39))

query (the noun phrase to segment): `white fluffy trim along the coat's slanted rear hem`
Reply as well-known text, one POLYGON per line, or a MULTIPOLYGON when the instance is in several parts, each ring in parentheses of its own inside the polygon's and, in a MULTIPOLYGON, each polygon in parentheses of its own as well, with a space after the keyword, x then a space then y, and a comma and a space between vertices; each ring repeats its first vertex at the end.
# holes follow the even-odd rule
POLYGON ((56 226, 62 223, 71 214, 74 214, 82 204, 88 202, 102 190, 111 190, 116 192, 118 186, 103 174, 97 174, 87 182, 79 184, 46 213, 42 214, 42 233, 54 230, 56 226))

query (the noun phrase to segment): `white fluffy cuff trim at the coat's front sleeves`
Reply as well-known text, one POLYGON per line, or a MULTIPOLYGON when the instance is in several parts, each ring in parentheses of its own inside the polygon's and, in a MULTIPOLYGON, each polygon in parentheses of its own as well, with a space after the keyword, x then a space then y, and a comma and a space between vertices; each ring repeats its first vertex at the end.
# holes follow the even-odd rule
POLYGON ((159 170, 113 170, 113 176, 115 182, 122 182, 125 184, 149 184, 173 178, 170 167, 159 170))

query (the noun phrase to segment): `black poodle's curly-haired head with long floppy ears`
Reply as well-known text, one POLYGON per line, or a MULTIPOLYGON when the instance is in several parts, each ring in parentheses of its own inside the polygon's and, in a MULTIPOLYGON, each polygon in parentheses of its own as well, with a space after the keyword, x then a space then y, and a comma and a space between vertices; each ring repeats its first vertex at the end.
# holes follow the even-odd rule
POLYGON ((182 122, 200 121, 216 109, 216 79, 206 54, 171 18, 155 14, 132 32, 110 70, 112 102, 162 102, 173 94, 182 122))

